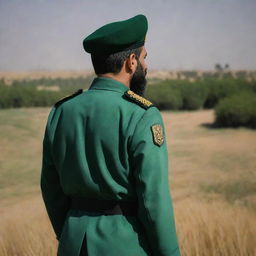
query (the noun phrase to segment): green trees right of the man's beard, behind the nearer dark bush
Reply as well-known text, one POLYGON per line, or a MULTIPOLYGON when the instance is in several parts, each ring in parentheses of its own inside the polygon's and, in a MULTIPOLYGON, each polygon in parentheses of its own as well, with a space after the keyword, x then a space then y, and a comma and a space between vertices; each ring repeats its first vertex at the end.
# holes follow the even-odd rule
POLYGON ((161 110, 197 110, 214 108, 221 99, 243 91, 256 92, 256 82, 234 78, 165 80, 150 84, 146 97, 161 110))

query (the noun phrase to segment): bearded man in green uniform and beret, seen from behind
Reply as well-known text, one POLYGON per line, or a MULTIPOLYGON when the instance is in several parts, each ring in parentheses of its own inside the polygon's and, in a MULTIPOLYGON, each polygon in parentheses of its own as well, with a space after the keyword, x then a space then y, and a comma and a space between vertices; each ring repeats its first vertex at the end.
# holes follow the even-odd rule
POLYGON ((180 255, 161 115, 143 98, 147 19, 84 39, 97 78, 52 108, 41 188, 61 256, 180 255))

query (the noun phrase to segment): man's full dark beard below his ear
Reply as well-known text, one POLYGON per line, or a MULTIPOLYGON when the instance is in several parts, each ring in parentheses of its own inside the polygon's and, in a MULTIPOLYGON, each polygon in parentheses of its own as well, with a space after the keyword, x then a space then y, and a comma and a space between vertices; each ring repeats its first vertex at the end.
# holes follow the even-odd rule
POLYGON ((146 74, 147 70, 143 70, 141 63, 138 61, 138 66, 130 82, 130 89, 140 96, 144 96, 146 90, 146 74))

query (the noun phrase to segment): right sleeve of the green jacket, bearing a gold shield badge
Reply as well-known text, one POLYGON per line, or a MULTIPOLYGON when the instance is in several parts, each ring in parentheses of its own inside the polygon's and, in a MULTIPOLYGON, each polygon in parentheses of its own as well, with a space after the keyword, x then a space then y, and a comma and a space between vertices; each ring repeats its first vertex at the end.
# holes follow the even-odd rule
POLYGON ((164 133, 160 112, 155 107, 144 113, 134 131, 131 152, 139 204, 138 215, 153 255, 179 256, 168 184, 168 153, 164 133))

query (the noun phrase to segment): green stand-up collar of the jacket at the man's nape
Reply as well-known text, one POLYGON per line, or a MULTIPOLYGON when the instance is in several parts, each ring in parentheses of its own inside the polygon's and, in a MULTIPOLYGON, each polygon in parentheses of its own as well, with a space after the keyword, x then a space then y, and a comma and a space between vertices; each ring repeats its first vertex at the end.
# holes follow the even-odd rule
POLYGON ((123 83, 118 82, 114 79, 108 77, 96 77, 89 90, 106 90, 106 91, 114 91, 119 93, 124 93, 129 90, 127 86, 123 83))

